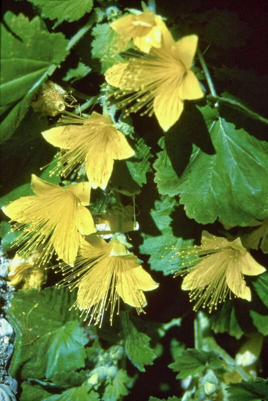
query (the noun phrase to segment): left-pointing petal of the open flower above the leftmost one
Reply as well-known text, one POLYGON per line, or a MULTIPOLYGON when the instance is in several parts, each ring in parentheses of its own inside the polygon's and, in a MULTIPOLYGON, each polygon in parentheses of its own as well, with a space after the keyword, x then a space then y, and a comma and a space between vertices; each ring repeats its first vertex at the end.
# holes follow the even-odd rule
POLYGON ((62 149, 70 149, 73 139, 75 138, 75 129, 77 129, 77 127, 73 125, 61 125, 42 132, 42 135, 46 141, 53 146, 61 147, 62 149))

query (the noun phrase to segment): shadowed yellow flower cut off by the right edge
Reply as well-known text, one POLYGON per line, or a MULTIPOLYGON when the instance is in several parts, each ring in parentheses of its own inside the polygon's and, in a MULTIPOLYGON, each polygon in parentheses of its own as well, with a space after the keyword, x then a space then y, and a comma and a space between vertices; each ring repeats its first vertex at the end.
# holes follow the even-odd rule
POLYGON ((258 227, 243 238, 243 245, 251 249, 260 248, 264 254, 268 254, 268 218, 262 222, 254 220, 250 226, 258 227))

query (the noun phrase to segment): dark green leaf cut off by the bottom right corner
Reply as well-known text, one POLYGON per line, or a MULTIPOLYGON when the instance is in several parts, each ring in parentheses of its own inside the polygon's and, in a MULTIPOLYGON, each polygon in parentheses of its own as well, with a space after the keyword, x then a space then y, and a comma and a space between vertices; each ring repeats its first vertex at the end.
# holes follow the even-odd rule
POLYGON ((239 383, 230 383, 227 387, 230 394, 229 401, 262 401, 268 399, 268 379, 262 378, 242 380, 239 383))

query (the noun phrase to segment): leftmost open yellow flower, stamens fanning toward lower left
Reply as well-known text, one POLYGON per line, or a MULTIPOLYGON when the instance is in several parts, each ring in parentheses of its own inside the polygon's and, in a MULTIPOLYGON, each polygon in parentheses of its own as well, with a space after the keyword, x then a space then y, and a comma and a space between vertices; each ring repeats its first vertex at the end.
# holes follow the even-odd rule
POLYGON ((20 253, 27 257, 39 252, 44 264, 56 251, 59 258, 73 265, 82 235, 96 231, 84 207, 89 205, 89 183, 62 188, 33 174, 32 189, 35 196, 21 197, 2 208, 12 221, 18 222, 13 229, 23 229, 17 240, 18 245, 24 243, 20 253))

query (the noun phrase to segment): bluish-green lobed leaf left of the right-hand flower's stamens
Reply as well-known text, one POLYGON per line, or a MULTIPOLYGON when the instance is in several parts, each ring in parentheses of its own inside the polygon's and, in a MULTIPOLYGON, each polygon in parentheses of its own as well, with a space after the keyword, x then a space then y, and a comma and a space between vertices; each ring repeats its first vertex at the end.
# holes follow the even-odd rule
MULTIPOLYGON (((155 201, 155 209, 150 211, 150 215, 157 228, 157 234, 153 236, 142 233, 144 243, 140 246, 142 254, 150 255, 151 269, 162 271, 165 276, 174 273, 174 266, 180 262, 179 256, 176 255, 178 248, 193 244, 193 240, 184 240, 182 237, 176 237, 173 234, 170 226, 172 222, 170 215, 174 213, 176 204, 176 199, 169 196, 162 196, 161 200, 155 201)), ((185 217, 182 209, 177 212, 176 221, 180 222, 182 227, 185 227, 187 223, 191 226, 191 222, 185 217), (185 226, 182 222, 186 223, 185 226)))

